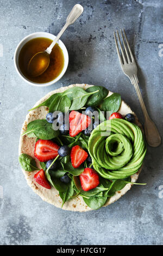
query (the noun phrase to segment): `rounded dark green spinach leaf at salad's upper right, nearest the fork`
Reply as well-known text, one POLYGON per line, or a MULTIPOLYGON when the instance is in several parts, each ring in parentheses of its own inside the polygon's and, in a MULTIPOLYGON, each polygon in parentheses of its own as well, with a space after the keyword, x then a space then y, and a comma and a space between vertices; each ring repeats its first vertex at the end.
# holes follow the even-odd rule
POLYGON ((113 93, 109 97, 103 100, 101 109, 103 111, 109 111, 110 115, 117 112, 121 105, 121 95, 118 93, 113 93))

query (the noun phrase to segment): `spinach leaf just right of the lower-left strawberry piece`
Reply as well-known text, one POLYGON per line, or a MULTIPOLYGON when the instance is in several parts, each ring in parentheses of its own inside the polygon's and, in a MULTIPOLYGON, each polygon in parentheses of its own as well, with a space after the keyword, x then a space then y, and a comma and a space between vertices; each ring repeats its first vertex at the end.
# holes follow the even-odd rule
POLYGON ((62 182, 60 178, 65 175, 64 170, 51 170, 47 169, 45 172, 46 178, 55 187, 58 191, 64 192, 67 191, 67 184, 62 182))

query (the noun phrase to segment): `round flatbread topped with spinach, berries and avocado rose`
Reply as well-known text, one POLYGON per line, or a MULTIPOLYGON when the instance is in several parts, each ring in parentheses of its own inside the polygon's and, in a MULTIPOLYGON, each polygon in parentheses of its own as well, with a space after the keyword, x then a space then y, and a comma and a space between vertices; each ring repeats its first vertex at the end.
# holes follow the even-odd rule
POLYGON ((136 183, 146 143, 121 95, 73 84, 48 93, 24 121, 19 161, 28 185, 71 211, 114 203, 136 183))

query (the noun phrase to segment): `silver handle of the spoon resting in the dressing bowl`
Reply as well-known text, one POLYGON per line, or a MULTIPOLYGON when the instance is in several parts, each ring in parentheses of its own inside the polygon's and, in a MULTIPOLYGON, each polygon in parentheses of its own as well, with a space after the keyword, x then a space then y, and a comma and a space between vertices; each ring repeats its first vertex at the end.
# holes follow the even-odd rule
POLYGON ((56 42, 60 39, 61 35, 65 32, 66 28, 73 24, 78 17, 83 13, 83 7, 80 4, 76 4, 74 5, 74 7, 72 8, 70 14, 67 16, 66 19, 66 24, 64 25, 64 27, 62 27, 61 31, 59 32, 59 34, 56 36, 56 38, 54 39, 54 41, 52 42, 52 44, 46 49, 46 52, 48 54, 51 53, 52 48, 54 47, 54 45, 56 44, 56 42))

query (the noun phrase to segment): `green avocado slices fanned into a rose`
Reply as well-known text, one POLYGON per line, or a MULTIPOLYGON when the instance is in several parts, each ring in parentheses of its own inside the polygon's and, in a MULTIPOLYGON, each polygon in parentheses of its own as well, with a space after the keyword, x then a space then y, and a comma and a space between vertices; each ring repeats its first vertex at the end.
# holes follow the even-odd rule
POLYGON ((89 138, 93 168, 106 179, 125 179, 136 173, 146 154, 140 128, 123 119, 106 120, 89 138))

